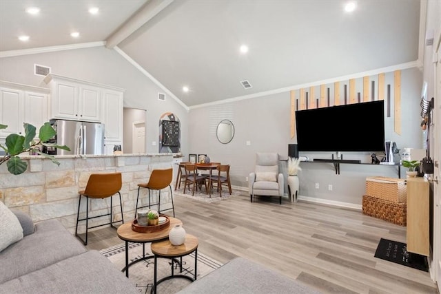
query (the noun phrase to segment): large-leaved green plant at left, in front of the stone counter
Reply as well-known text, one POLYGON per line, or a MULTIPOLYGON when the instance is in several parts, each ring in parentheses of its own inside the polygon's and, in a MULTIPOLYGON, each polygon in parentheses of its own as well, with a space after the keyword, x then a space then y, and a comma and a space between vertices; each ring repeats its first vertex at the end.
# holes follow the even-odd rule
MULTIPOLYGON (((7 125, 0 124, 0 129, 6 129, 7 127, 7 125)), ((45 123, 43 126, 40 127, 38 142, 34 140, 36 135, 36 128, 29 123, 24 123, 23 127, 25 129, 25 136, 21 136, 19 134, 9 134, 6 137, 5 145, 0 144, 1 149, 6 152, 6 155, 0 158, 0 165, 4 162, 7 162, 6 165, 8 167, 8 171, 11 174, 23 174, 26 169, 28 169, 28 163, 19 157, 19 154, 23 152, 32 152, 33 154, 39 154, 41 156, 44 156, 45 158, 52 160, 54 164, 60 165, 60 162, 58 162, 54 156, 41 152, 42 146, 55 147, 70 151, 70 148, 65 145, 59 146, 54 143, 45 143, 57 134, 50 123, 45 123)))

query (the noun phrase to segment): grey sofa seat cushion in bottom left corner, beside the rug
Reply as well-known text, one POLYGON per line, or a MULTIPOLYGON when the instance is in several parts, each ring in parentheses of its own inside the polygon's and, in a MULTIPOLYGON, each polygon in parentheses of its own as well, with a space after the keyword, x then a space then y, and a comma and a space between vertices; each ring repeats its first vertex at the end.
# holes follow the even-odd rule
POLYGON ((34 294, 36 291, 47 294, 139 293, 120 269, 95 250, 0 284, 0 293, 34 294))

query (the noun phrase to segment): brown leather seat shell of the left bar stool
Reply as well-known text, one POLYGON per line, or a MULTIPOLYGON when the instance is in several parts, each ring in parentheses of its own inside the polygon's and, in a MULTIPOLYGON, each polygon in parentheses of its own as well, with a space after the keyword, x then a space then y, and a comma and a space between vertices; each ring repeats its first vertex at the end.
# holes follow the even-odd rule
POLYGON ((121 173, 91 174, 83 195, 89 198, 106 198, 121 190, 121 173))

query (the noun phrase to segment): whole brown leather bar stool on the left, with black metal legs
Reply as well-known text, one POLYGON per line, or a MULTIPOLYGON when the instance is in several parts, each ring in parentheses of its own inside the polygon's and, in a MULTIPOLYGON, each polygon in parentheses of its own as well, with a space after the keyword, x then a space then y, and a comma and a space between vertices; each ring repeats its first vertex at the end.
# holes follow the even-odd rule
POLYGON ((79 191, 79 202, 78 202, 78 212, 76 213, 76 226, 75 226, 75 235, 78 237, 85 245, 88 244, 88 231, 89 229, 93 229, 96 227, 105 226, 107 224, 110 224, 110 227, 113 227, 116 229, 116 227, 113 225, 115 222, 124 222, 124 215, 123 215, 123 202, 121 200, 121 193, 119 193, 119 190, 121 190, 123 183, 121 179, 121 173, 113 173, 113 174, 91 174, 88 180, 88 184, 86 185, 84 190, 79 191), (112 217, 112 196, 114 194, 119 194, 119 205, 121 207, 121 220, 113 221, 112 217), (81 207, 81 196, 84 196, 86 198, 86 206, 85 206, 85 218, 79 218, 80 216, 80 207, 81 207), (93 198, 108 198, 110 197, 110 213, 101 214, 99 216, 92 216, 89 217, 89 199, 93 198), (102 216, 110 216, 110 222, 107 222, 105 224, 99 224, 94 227, 89 227, 89 220, 92 218, 101 218, 102 216), (78 223, 82 220, 85 220, 85 240, 83 240, 78 235, 78 223))

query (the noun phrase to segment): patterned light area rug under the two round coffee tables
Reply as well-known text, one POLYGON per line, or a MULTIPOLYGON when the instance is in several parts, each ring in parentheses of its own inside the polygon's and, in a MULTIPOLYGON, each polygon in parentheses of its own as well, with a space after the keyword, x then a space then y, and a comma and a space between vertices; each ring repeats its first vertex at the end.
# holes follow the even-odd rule
MULTIPOLYGON (((100 251, 102 255, 108 258, 118 269, 123 269, 125 266, 125 244, 119 244, 100 251)), ((145 244, 145 254, 153 255, 150 251, 150 244, 145 244)), ((130 243, 129 244, 129 262, 139 260, 143 257, 143 244, 130 243)), ((158 258, 158 280, 161 277, 166 277, 172 274, 171 261, 167 258, 158 258)), ((207 275, 211 271, 218 269, 222 264, 207 255, 198 251, 198 269, 197 279, 207 275)), ((174 274, 175 275, 188 275, 194 277, 194 253, 183 257, 183 272, 179 272, 179 266, 174 262, 174 274)), ((125 272, 124 272, 125 274, 125 272)), ((132 280, 139 289, 140 293, 150 293, 152 290, 152 284, 154 280, 154 259, 150 258, 143 260, 136 264, 133 264, 129 268, 129 280, 132 280)), ((187 279, 174 278, 166 280, 161 284, 158 284, 158 293, 176 293, 185 288, 189 283, 187 279)))

